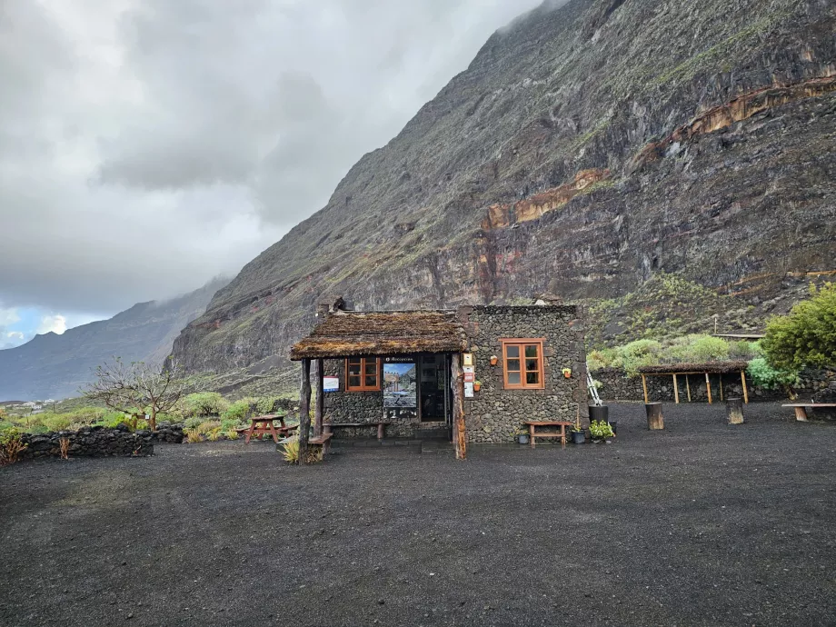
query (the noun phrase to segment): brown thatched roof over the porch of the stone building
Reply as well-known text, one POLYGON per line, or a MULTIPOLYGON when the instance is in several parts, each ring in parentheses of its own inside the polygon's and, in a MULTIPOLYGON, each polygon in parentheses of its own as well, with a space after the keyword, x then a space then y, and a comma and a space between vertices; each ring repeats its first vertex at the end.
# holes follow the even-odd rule
POLYGON ((453 312, 336 312, 296 343, 290 358, 299 361, 466 350, 464 329, 453 312))

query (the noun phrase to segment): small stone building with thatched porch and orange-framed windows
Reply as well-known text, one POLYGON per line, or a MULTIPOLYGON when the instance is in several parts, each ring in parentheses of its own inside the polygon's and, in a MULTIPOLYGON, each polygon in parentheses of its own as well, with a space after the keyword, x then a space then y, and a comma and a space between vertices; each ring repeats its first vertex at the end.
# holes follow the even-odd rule
POLYGON ((582 323, 572 305, 476 305, 353 312, 321 306, 322 321, 291 359, 314 363, 322 390, 314 434, 512 443, 523 421, 588 424, 582 323))

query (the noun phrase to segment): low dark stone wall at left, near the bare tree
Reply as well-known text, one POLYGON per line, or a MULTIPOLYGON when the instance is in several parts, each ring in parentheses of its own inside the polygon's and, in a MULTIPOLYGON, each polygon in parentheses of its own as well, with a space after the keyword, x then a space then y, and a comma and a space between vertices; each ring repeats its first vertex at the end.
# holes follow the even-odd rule
POLYGON ((131 433, 127 426, 120 425, 114 429, 82 427, 76 432, 24 433, 21 439, 27 447, 20 459, 57 457, 61 454, 62 438, 70 442, 70 457, 147 457, 154 454, 154 435, 150 431, 131 433))

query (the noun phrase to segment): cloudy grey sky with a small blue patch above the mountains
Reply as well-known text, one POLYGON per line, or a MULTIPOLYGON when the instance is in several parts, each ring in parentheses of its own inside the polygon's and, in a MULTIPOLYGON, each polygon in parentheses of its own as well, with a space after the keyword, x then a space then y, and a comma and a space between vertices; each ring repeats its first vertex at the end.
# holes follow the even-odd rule
POLYGON ((235 274, 538 4, 0 1, 0 347, 235 274))

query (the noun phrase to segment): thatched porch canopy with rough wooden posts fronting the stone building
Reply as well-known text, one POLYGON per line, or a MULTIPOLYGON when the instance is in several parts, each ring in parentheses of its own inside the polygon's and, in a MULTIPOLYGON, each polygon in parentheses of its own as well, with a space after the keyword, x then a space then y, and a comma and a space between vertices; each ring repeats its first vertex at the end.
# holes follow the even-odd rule
POLYGON ((290 358, 302 363, 299 394, 299 459, 307 457, 311 428, 311 365, 314 364, 316 402, 314 438, 323 436, 324 360, 385 357, 415 353, 450 353, 453 381, 453 447, 465 459, 464 372, 461 353, 467 350, 464 329, 454 312, 325 312, 323 322, 291 349, 290 358))

